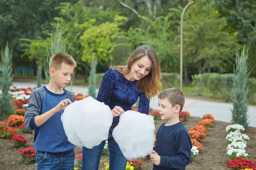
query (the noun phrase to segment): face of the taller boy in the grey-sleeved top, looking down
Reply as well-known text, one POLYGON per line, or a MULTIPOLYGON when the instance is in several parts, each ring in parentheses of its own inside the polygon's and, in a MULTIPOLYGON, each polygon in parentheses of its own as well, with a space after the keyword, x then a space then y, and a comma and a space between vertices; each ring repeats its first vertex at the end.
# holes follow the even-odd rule
POLYGON ((61 68, 54 69, 54 82, 61 88, 65 88, 71 80, 74 66, 68 65, 65 62, 61 63, 61 68))

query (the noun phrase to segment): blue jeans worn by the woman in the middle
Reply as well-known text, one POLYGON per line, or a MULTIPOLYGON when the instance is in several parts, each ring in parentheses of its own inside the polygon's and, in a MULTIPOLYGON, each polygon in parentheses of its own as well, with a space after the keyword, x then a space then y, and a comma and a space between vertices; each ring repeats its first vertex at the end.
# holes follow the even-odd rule
MULTIPOLYGON (((123 156, 118 144, 113 139, 112 132, 114 127, 110 127, 108 133, 109 150, 109 170, 125 170, 127 159, 123 156)), ((83 147, 82 170, 98 170, 99 160, 106 141, 103 141, 96 147, 88 149, 83 147)), ((104 162, 106 163, 106 162, 104 162)), ((107 162, 108 163, 108 162, 107 162)))

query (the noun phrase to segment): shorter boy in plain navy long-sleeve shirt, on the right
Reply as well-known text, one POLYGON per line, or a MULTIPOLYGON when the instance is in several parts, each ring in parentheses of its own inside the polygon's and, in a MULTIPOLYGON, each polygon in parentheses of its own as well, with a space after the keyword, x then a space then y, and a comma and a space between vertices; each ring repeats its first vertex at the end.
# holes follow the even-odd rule
POLYGON ((185 170, 191 160, 192 143, 179 114, 185 98, 177 88, 168 88, 158 96, 159 113, 166 120, 157 131, 157 141, 151 153, 153 170, 185 170))

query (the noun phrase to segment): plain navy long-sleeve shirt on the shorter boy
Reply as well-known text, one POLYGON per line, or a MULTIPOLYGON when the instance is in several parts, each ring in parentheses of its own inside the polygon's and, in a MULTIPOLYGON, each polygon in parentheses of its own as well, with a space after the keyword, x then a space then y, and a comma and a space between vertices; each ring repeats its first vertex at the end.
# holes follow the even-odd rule
POLYGON ((191 161, 189 133, 181 122, 171 126, 165 124, 157 131, 154 150, 160 156, 160 164, 154 164, 153 170, 185 170, 191 161))

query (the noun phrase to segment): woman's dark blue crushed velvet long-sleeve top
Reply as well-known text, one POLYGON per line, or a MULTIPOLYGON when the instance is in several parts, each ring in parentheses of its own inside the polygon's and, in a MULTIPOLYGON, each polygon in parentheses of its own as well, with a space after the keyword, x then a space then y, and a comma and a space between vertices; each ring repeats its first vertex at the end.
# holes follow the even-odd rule
MULTIPOLYGON (((132 110, 131 107, 137 102, 140 96, 140 113, 148 114, 149 99, 137 86, 137 81, 129 81, 125 76, 116 70, 109 69, 102 78, 97 100, 104 102, 111 110, 120 106, 124 111, 132 110)), ((113 118, 113 125, 117 125, 119 116, 113 118)))

